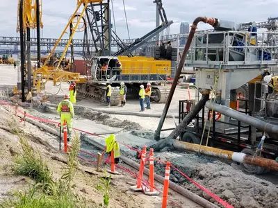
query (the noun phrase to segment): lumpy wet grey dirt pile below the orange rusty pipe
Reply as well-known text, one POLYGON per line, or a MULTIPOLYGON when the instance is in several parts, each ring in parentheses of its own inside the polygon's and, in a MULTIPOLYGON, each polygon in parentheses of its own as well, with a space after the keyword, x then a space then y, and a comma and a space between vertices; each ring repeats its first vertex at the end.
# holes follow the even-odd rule
MULTIPOLYGON (((182 156, 178 153, 161 153, 156 156, 163 161, 170 161, 188 177, 223 200, 227 200, 235 208, 270 208, 278 205, 278 187, 275 184, 254 175, 246 175, 238 168, 234 168, 236 167, 234 163, 229 165, 197 153, 182 154, 182 156), (179 156, 177 157, 176 154, 179 156)), ((164 175, 165 165, 156 162, 155 172, 164 175)), ((173 168, 171 168, 170 180, 220 206, 211 196, 173 168)))

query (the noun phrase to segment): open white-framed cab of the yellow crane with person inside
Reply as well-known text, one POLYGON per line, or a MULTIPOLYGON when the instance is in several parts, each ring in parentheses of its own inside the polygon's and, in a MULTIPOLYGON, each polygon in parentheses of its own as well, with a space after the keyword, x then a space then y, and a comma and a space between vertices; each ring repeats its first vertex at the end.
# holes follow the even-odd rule
POLYGON ((117 56, 95 57, 92 62, 92 80, 115 80, 120 75, 120 64, 117 56))

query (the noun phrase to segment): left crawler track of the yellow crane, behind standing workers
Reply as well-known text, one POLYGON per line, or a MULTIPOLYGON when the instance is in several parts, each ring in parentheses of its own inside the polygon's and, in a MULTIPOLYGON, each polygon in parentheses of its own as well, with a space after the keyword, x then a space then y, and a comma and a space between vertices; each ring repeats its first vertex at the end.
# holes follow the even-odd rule
MULTIPOLYGON (((77 85, 77 93, 91 98, 97 103, 106 103, 106 85, 92 85, 91 83, 83 83, 77 85)), ((111 106, 120 105, 120 89, 112 87, 111 106)))

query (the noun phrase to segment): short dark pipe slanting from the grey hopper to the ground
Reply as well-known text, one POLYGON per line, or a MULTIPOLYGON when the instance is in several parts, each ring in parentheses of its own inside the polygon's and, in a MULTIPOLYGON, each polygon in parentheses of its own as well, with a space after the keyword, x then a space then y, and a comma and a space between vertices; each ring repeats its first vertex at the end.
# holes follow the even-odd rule
POLYGON ((191 110, 186 117, 179 123, 177 128, 175 128, 169 138, 176 139, 181 135, 181 132, 186 128, 186 126, 195 118, 195 116, 204 108, 206 101, 209 98, 209 91, 203 92, 201 100, 195 105, 193 110, 191 110))

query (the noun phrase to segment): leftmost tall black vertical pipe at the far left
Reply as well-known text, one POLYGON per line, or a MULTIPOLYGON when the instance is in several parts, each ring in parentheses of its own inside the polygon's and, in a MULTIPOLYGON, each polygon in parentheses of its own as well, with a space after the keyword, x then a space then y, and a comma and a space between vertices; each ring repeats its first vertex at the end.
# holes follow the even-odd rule
POLYGON ((22 75, 22 103, 25 102, 25 86, 24 86, 24 67, 25 67, 25 54, 24 54, 24 32, 23 32, 23 1, 19 1, 19 35, 20 35, 20 60, 21 60, 21 75, 22 75))

